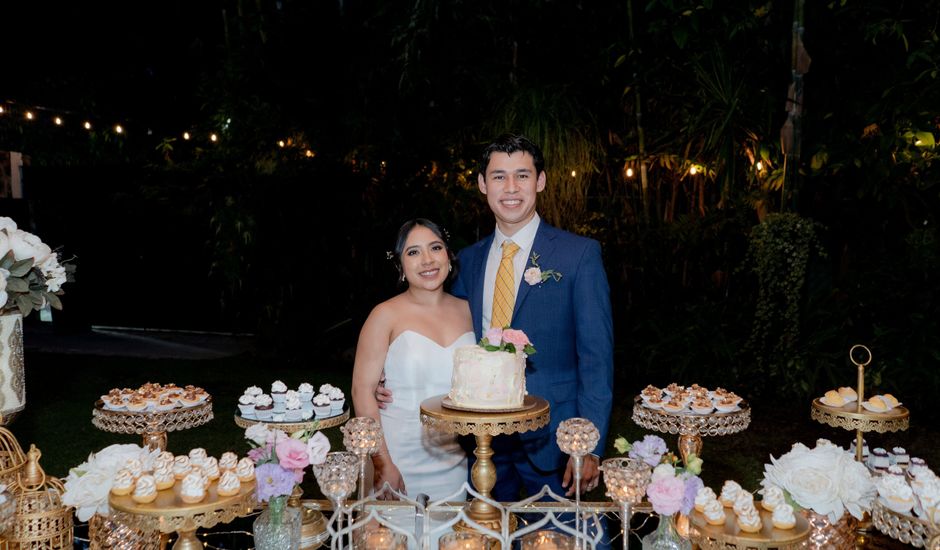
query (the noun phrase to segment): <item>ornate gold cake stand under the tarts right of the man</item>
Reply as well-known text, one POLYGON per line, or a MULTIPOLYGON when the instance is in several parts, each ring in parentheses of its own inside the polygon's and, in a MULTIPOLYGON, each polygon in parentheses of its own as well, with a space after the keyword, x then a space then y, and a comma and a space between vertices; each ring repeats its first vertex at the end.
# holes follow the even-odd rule
POLYGON ((702 456, 702 436, 729 435, 744 431, 751 423, 751 406, 738 403, 738 410, 697 414, 651 409, 643 398, 633 400, 633 421, 640 427, 661 433, 679 434, 679 453, 688 464, 690 454, 702 456))

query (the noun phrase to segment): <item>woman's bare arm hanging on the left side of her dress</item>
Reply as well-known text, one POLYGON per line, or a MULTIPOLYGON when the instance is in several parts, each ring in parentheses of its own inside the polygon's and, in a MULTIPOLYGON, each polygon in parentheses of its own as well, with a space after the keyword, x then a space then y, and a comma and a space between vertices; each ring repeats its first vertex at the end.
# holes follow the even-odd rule
MULTIPOLYGON (((353 364, 352 398, 356 416, 368 416, 379 423, 382 420, 379 417, 375 389, 382 377, 385 356, 388 354, 393 319, 389 309, 391 308, 387 304, 380 304, 369 314, 359 332, 356 361, 353 364)), ((384 426, 382 431, 385 431, 384 426)), ((387 481, 392 489, 405 492, 405 482, 398 467, 392 462, 384 437, 378 452, 372 455, 372 465, 375 469, 374 487, 381 488, 387 481)))

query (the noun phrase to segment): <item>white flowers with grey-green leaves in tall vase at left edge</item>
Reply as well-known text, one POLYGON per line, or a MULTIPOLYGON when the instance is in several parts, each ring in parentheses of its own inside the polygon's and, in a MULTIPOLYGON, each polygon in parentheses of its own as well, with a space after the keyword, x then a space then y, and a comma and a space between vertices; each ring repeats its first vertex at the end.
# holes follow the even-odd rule
POLYGON ((0 216, 0 315, 18 311, 23 317, 47 304, 62 309, 59 296, 73 266, 36 235, 0 216))

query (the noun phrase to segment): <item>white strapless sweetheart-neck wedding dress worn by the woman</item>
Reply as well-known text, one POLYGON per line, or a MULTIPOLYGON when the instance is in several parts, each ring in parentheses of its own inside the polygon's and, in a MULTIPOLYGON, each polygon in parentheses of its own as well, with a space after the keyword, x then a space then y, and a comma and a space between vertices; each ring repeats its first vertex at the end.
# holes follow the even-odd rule
POLYGON ((406 330, 388 346, 385 387, 392 390, 393 401, 379 414, 389 453, 410 498, 424 493, 432 502, 440 500, 467 481, 467 456, 457 436, 422 425, 419 407, 425 399, 450 391, 454 350, 474 343, 472 332, 443 347, 406 330))

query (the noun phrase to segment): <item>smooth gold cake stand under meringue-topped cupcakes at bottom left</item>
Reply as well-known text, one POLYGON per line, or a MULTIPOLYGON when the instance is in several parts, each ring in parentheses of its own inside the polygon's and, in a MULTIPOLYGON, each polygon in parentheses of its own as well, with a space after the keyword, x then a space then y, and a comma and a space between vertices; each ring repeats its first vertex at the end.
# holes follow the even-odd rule
POLYGON ((180 498, 180 483, 157 491, 157 500, 149 504, 134 502, 131 495, 110 495, 111 514, 128 527, 142 531, 177 534, 173 550, 203 550, 196 529, 228 523, 249 515, 255 509, 255 482, 243 482, 237 495, 220 497, 217 482, 212 482, 202 502, 187 504, 180 498))

